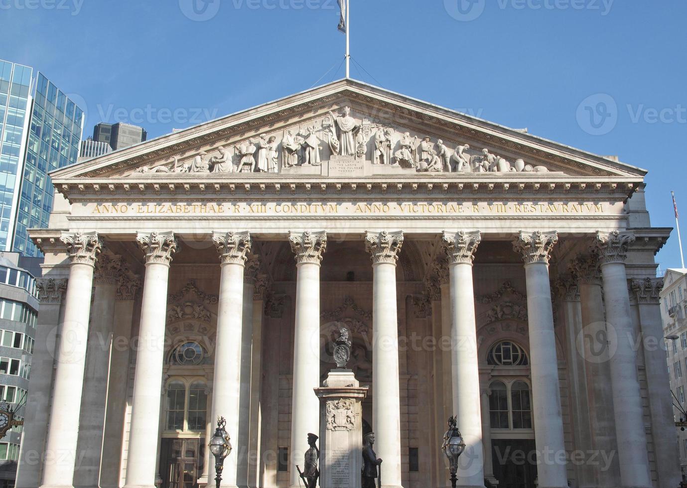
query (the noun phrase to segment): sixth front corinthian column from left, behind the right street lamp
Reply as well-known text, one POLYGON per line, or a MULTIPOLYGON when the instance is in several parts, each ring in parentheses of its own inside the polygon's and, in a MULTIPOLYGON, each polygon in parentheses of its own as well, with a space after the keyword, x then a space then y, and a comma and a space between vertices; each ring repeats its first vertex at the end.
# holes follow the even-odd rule
POLYGON ((477 364, 477 326, 473 260, 482 235, 444 232, 451 280, 451 375, 453 411, 466 447, 458 462, 460 487, 484 487, 480 369, 477 364))

